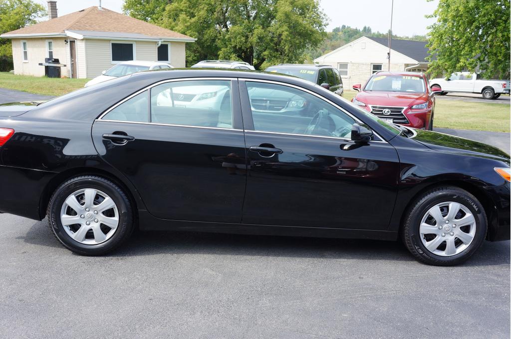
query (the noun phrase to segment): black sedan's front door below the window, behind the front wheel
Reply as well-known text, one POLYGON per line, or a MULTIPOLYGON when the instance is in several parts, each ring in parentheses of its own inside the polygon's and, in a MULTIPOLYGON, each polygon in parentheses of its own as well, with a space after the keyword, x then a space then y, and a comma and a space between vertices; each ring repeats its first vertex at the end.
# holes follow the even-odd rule
MULTIPOLYGON (((248 172, 244 224, 387 229, 397 197, 396 149, 384 141, 254 131, 259 123, 245 88, 240 81, 248 172)), ((289 124, 300 123, 289 118, 289 124)), ((284 120, 276 121, 289 130, 284 120)))

